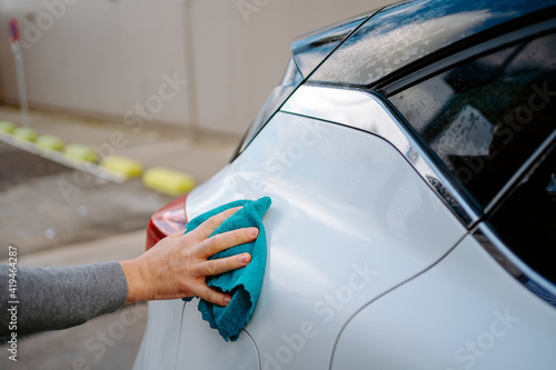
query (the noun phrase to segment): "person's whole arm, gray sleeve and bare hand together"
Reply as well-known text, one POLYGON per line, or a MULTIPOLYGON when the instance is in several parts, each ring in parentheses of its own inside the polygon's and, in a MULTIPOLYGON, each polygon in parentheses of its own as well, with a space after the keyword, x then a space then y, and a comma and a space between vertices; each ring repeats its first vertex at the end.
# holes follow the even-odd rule
MULTIPOLYGON (((209 258, 254 241, 259 230, 245 228, 210 236, 239 209, 215 214, 186 234, 169 236, 133 260, 47 269, 18 267, 18 334, 69 328, 125 303, 147 300, 200 297, 228 304, 231 297, 209 288, 206 277, 242 268, 251 256, 209 258)), ((8 328, 8 301, 12 300, 8 282, 9 268, 0 266, 0 337, 12 331, 8 328)))

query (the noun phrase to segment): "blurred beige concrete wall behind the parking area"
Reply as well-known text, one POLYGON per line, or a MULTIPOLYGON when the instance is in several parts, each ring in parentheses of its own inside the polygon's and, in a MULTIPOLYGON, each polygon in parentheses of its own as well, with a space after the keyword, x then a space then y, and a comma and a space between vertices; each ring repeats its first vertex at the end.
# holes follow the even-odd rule
POLYGON ((18 101, 16 16, 31 107, 239 136, 295 37, 389 2, 0 0, 0 99, 18 101))

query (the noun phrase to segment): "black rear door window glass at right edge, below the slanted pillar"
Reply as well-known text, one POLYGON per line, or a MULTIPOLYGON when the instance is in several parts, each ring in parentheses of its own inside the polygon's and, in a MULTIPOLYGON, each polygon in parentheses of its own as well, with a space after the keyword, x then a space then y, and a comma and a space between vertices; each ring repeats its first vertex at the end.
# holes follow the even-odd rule
POLYGON ((556 150, 492 216, 500 239, 530 268, 556 283, 556 150))

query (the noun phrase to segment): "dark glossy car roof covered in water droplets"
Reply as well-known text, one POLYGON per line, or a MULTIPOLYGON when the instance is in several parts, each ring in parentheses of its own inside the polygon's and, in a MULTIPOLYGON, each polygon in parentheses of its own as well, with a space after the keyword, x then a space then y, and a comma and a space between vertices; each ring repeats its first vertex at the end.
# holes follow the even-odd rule
POLYGON ((366 21, 310 80, 370 87, 437 50, 550 6, 554 1, 398 2, 366 21))

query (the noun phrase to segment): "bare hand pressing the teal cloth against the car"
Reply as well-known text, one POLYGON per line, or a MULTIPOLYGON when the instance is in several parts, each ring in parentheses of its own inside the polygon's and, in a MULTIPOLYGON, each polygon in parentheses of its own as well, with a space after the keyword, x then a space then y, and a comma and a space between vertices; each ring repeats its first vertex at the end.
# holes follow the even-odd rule
POLYGON ((205 278, 247 266, 251 256, 241 253, 208 260, 228 248, 257 239, 257 228, 238 229, 208 238, 241 207, 212 216, 191 232, 177 232, 160 240, 143 254, 120 264, 128 281, 126 304, 161 299, 200 297, 227 306, 231 297, 207 286, 205 278), (208 239, 207 239, 208 238, 208 239))

